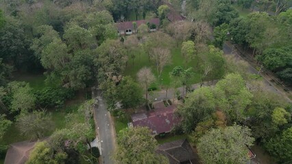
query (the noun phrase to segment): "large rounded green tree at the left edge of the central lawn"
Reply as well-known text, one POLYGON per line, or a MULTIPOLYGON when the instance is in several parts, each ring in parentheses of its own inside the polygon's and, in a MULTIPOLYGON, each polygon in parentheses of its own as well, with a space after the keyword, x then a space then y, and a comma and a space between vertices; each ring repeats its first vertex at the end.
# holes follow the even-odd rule
POLYGON ((127 54, 118 40, 106 40, 97 49, 98 57, 94 63, 98 66, 98 79, 104 81, 118 77, 124 71, 127 64, 127 54))

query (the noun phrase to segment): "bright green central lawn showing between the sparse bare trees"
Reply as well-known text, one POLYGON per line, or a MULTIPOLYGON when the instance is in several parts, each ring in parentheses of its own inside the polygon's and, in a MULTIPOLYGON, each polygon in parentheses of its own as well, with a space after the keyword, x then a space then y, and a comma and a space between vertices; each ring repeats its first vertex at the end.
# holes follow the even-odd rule
MULTIPOLYGON (((172 69, 176 66, 183 66, 185 68, 192 67, 194 68, 194 77, 191 79, 191 83, 198 83, 200 82, 200 70, 197 67, 198 66, 198 59, 191 60, 188 64, 185 65, 185 61, 183 59, 183 56, 181 55, 181 47, 173 48, 171 50, 172 53, 172 64, 169 64, 168 66, 165 66, 163 69, 163 72, 161 74, 161 78, 157 79, 156 85, 159 85, 162 83, 164 86, 170 85, 170 72, 172 69)), ((146 53, 140 53, 135 57, 134 63, 132 59, 129 59, 129 64, 125 70, 125 75, 129 75, 133 77, 133 79, 137 79, 137 72, 143 68, 144 66, 152 68, 152 72, 157 76, 157 69, 148 59, 148 55, 146 53)))

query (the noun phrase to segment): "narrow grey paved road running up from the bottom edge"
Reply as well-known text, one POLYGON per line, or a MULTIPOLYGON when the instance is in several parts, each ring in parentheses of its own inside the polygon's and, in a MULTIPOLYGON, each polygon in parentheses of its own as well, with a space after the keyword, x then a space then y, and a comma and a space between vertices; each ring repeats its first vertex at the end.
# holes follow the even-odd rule
POLYGON ((94 105, 94 122, 101 151, 101 164, 113 164, 114 161, 111 159, 111 156, 116 146, 114 123, 111 120, 109 111, 107 111, 105 100, 103 100, 100 94, 96 96, 96 100, 98 100, 98 104, 94 105))

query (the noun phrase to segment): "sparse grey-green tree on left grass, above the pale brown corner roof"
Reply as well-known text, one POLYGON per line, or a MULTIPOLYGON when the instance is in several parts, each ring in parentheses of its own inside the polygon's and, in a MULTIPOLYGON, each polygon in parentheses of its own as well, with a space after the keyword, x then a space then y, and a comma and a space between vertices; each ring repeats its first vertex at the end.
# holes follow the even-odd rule
POLYGON ((16 124, 21 135, 29 136, 31 139, 41 139, 44 137, 44 133, 53 128, 51 115, 45 111, 21 114, 18 116, 16 124))

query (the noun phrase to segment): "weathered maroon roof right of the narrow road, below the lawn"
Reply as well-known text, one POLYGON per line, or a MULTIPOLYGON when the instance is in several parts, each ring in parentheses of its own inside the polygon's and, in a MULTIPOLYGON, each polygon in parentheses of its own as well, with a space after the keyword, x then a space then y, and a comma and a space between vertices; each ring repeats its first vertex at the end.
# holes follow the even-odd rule
POLYGON ((168 133, 179 119, 174 116, 175 105, 165 107, 163 102, 154 105, 155 110, 146 113, 135 113, 131 115, 133 126, 146 126, 150 128, 152 135, 168 133))

